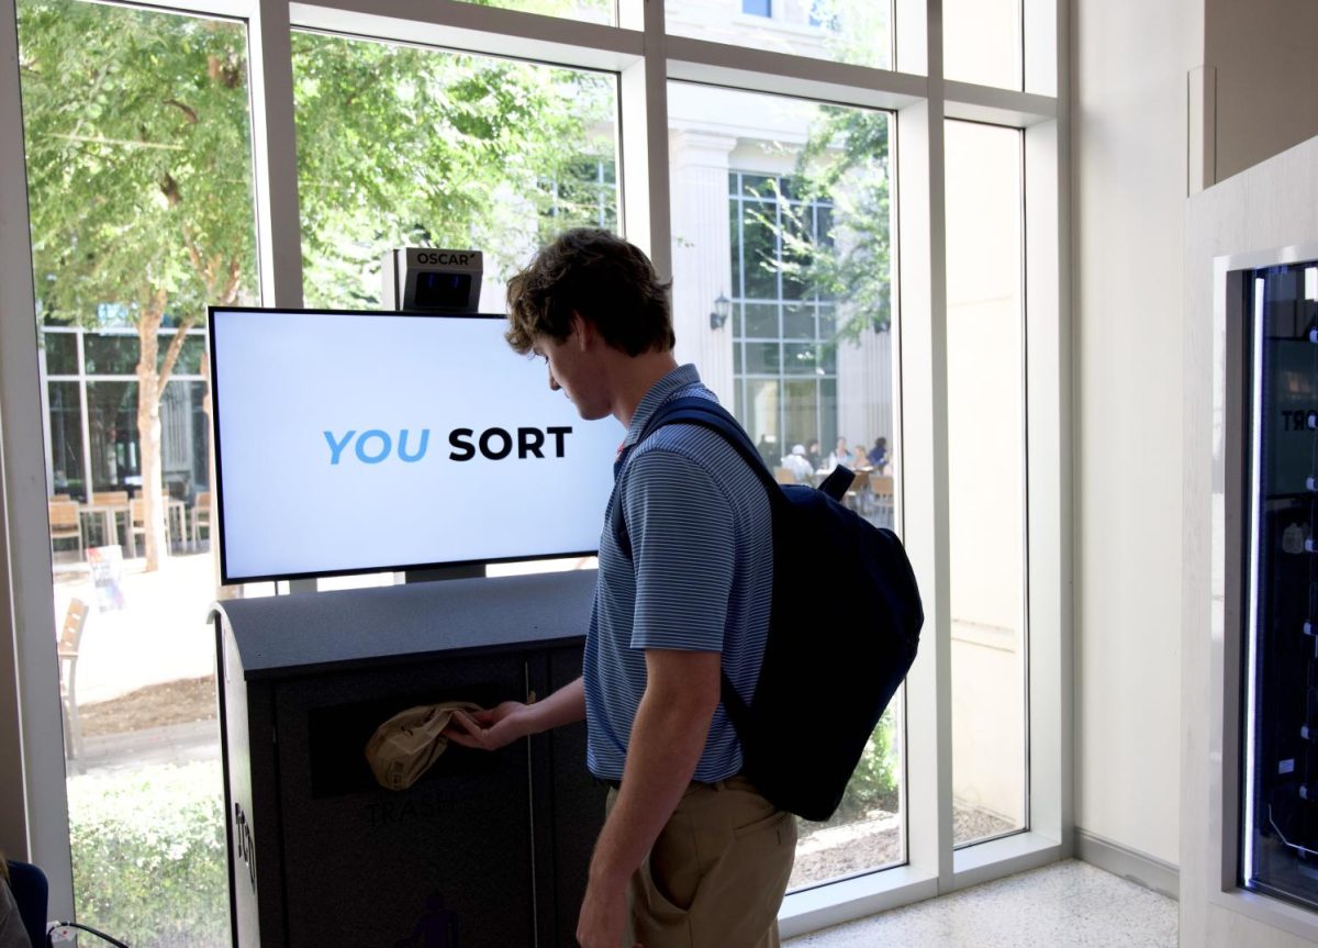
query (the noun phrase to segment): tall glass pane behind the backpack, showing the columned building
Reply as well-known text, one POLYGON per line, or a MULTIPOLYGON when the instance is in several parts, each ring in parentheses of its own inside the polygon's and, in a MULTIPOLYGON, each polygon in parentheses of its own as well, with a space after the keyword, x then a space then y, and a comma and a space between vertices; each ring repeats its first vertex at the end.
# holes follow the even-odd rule
MULTIPOLYGON (((892 526, 890 116, 676 83, 668 102, 679 359, 780 480, 841 454, 846 502, 892 526)), ((792 889, 905 860, 900 721, 899 696, 838 814, 801 824, 792 889)))

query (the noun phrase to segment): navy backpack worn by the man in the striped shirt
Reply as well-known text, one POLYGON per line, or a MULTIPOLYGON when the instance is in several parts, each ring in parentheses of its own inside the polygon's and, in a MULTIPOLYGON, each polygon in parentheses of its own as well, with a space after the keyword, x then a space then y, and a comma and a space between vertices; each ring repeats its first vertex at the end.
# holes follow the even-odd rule
POLYGON ((826 820, 915 661, 924 609, 911 562, 896 534, 838 502, 854 477, 845 467, 818 488, 779 484, 737 419, 709 398, 662 405, 641 436, 677 423, 721 434, 768 492, 774 601, 749 705, 722 676, 743 773, 779 808, 826 820), (825 608, 847 621, 821 621, 825 608))

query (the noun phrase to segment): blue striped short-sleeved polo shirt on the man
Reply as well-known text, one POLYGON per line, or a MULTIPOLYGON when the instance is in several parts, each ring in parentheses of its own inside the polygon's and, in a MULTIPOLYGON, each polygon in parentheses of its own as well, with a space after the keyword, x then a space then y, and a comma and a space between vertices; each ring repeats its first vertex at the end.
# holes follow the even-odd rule
MULTIPOLYGON (((647 649, 722 653, 747 701, 764 655, 774 580, 764 485, 720 434, 695 425, 667 425, 637 443, 660 405, 685 396, 714 400, 693 365, 673 369, 641 400, 600 537, 584 679, 587 762, 602 779, 622 778, 647 649), (619 513, 630 560, 618 545, 619 513)), ((693 779, 721 781, 741 765, 720 703, 693 779)))

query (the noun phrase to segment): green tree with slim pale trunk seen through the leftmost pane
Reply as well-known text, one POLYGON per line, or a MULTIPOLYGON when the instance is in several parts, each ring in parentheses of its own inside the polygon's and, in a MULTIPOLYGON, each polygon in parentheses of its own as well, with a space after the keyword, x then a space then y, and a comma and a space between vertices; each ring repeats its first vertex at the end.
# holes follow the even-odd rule
POLYGON ((166 550, 161 397, 204 305, 254 283, 245 37, 66 0, 22 0, 18 26, 38 316, 94 327, 109 303, 137 328, 154 570, 166 550))

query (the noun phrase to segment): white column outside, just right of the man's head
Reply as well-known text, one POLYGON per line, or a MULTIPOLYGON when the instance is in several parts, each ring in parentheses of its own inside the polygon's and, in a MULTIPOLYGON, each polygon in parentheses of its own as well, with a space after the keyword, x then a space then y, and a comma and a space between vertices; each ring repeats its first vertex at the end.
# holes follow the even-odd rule
POLYGON ((720 401, 733 406, 733 322, 710 328, 714 299, 733 295, 731 235, 728 228, 730 136, 672 132, 672 318, 676 356, 695 363, 720 401))

